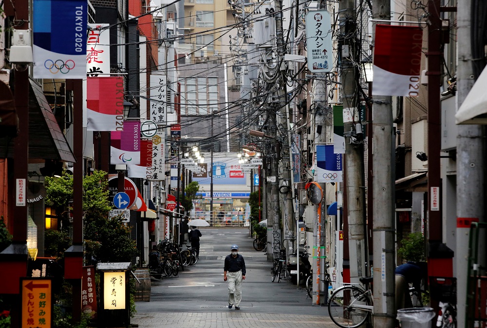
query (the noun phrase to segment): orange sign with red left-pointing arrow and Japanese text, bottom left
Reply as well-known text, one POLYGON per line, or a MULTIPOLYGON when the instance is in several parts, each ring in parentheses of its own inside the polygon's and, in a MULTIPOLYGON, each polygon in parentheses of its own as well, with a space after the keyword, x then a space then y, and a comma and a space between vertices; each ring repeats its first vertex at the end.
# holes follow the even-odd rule
POLYGON ((21 278, 22 328, 51 328, 53 302, 51 279, 21 278))

